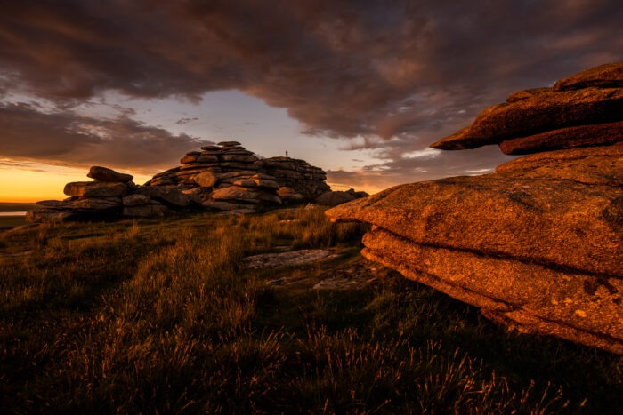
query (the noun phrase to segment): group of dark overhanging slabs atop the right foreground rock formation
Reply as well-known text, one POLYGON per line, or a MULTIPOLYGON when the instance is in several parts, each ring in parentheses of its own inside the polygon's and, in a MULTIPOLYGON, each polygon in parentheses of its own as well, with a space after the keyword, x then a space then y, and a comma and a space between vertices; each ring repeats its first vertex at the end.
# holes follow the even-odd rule
POLYGON ((553 88, 514 92, 432 148, 498 144, 506 154, 608 145, 621 140, 623 62, 587 69, 553 88))

